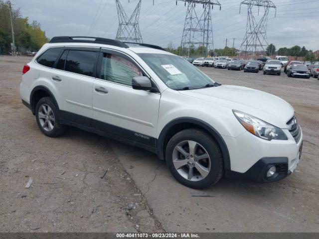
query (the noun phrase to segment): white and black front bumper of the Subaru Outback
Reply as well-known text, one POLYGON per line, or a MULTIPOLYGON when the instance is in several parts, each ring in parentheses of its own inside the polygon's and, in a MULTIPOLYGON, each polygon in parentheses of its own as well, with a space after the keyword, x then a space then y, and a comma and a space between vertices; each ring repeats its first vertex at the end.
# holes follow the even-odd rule
POLYGON ((273 182, 289 176, 300 163, 303 133, 298 142, 283 129, 288 140, 265 140, 245 132, 238 137, 224 136, 229 150, 231 170, 226 170, 226 178, 246 179, 259 183, 273 182), (267 178, 270 167, 276 166, 275 177, 267 178))

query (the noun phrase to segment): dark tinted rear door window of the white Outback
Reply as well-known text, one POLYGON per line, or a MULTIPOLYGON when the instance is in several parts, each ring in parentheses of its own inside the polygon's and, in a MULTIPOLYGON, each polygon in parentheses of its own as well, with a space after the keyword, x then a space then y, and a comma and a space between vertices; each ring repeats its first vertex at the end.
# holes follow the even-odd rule
POLYGON ((93 76, 96 60, 97 52, 69 50, 65 70, 85 76, 93 76))

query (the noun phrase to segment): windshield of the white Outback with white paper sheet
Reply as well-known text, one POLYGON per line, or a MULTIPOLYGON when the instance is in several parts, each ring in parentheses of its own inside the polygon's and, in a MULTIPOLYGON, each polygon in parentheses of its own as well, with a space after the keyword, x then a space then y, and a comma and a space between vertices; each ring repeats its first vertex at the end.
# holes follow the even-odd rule
POLYGON ((138 55, 170 89, 198 89, 215 83, 195 66, 190 65, 178 56, 152 53, 140 53, 138 55))

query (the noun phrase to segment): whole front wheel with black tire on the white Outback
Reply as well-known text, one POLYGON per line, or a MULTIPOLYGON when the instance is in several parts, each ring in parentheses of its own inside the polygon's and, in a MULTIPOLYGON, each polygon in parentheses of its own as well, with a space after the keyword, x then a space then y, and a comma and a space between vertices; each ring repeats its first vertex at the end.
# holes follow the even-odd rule
POLYGON ((224 173, 224 162, 217 142, 205 131, 190 128, 176 133, 166 147, 166 164, 181 184, 207 188, 224 173))

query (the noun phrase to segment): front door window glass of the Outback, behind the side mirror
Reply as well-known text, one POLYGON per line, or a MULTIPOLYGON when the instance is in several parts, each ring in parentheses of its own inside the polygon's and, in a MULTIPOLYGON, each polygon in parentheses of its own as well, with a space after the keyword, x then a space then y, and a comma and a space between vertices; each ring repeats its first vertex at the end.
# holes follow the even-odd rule
POLYGON ((132 86, 132 79, 143 76, 142 71, 128 59, 110 54, 102 53, 101 79, 114 83, 132 86))

